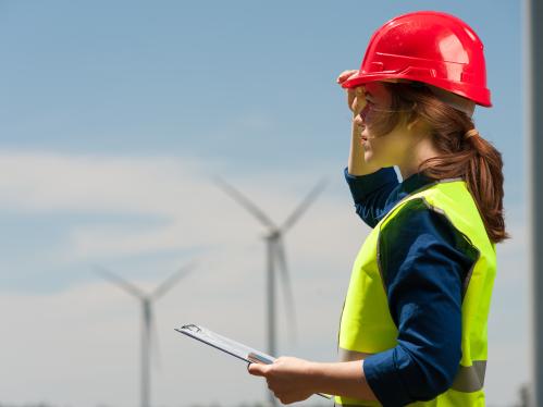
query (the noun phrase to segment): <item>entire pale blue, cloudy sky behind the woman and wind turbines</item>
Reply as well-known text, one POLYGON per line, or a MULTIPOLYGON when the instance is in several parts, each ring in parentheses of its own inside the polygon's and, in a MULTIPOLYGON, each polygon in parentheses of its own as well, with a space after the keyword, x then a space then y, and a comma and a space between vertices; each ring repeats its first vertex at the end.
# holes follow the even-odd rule
MULTIPOLYGON (((351 262, 368 234, 343 178, 340 72, 416 10, 453 13, 485 45, 494 107, 480 133, 505 162, 506 221, 489 322, 488 405, 529 381, 521 1, 0 1, 0 405, 139 404, 140 303, 151 293, 152 406, 267 402, 243 362, 174 331, 195 322, 266 349, 262 225, 281 224, 296 316, 279 289, 277 354, 336 359, 351 262)), ((281 288, 281 286, 279 287, 281 288)), ((323 404, 311 397, 305 405, 323 404)))

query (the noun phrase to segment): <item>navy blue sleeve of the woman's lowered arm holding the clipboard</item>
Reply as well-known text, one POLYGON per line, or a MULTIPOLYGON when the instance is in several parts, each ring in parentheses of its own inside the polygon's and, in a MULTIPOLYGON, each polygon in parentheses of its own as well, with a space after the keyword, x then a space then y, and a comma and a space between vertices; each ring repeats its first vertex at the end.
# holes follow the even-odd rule
POLYGON ((462 286, 478 256, 445 215, 411 202, 379 242, 398 338, 366 359, 363 370, 383 406, 430 400, 451 387, 461 359, 462 286))

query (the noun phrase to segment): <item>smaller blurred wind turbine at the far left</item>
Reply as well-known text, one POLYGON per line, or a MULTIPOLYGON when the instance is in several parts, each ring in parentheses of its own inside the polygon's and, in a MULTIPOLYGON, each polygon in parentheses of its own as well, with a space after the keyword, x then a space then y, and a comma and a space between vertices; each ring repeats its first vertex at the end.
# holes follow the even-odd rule
MULTIPOLYGON (((183 278, 194 266, 188 264, 175 273, 170 275, 166 280, 162 282, 155 291, 151 293, 144 293, 141 289, 136 287, 134 284, 127 282, 126 280, 113 274, 111 271, 102 268, 95 267, 95 271, 100 274, 106 280, 119 286, 121 289, 125 291, 129 295, 136 297, 141 305, 141 382, 140 382, 140 397, 141 407, 150 407, 150 357, 151 357, 151 331, 156 331, 155 320, 152 317, 152 303, 163 296, 170 288, 172 288, 181 278, 183 278)), ((155 333, 157 336, 157 334, 155 333)))

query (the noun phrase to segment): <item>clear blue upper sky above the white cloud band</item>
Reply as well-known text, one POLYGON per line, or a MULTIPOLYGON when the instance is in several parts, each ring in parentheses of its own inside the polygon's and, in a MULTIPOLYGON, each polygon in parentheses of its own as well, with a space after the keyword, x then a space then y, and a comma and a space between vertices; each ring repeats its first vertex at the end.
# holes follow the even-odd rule
MULTIPOLYGON (((368 37, 391 15, 437 4, 2 2, 2 144, 203 155, 263 168, 277 155, 288 162, 343 158, 337 72, 359 65, 368 37), (266 155, 256 155, 263 140, 266 155)), ((502 150, 517 146, 507 140, 520 133, 518 2, 439 9, 485 39, 495 108, 478 119, 502 150)))

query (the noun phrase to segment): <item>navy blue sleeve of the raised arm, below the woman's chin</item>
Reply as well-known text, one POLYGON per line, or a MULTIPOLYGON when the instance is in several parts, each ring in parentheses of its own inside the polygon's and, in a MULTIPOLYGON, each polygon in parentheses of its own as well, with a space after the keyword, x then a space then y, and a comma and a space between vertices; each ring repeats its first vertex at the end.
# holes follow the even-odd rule
POLYGON ((351 175, 345 169, 345 180, 362 221, 375 227, 385 211, 386 199, 399 184, 394 169, 385 168, 367 175, 351 175))

